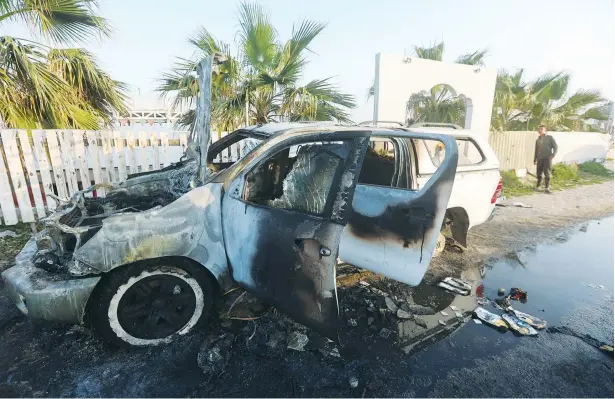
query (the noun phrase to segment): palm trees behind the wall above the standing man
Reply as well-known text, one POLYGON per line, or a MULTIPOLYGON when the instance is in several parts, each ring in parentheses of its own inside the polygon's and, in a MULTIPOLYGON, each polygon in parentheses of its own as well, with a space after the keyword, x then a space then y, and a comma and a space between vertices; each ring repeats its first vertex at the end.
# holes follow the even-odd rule
POLYGON ((568 95, 570 76, 546 74, 534 81, 523 79, 523 69, 500 71, 497 78, 491 129, 534 130, 544 124, 556 131, 588 131, 589 120, 607 120, 605 99, 596 90, 580 89, 568 95))

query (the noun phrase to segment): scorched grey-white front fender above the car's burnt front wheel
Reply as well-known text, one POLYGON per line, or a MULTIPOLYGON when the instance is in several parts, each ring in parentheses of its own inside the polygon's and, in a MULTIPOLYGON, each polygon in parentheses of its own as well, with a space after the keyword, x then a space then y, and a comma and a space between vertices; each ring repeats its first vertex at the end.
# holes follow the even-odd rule
POLYGON ((186 256, 228 281, 222 243, 222 185, 196 188, 163 208, 111 216, 75 251, 74 259, 107 272, 118 266, 163 256, 186 256))

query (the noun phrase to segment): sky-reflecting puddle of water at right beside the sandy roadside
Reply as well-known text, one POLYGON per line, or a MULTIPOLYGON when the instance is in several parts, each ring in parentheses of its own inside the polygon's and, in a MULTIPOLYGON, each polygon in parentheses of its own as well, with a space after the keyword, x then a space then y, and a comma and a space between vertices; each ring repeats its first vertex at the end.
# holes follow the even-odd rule
POLYGON ((528 292, 528 301, 513 301, 513 307, 546 319, 549 325, 570 315, 579 302, 597 305, 612 296, 613 218, 585 224, 565 237, 561 243, 513 252, 488 265, 485 294, 495 299, 498 288, 506 292, 521 288, 528 292))

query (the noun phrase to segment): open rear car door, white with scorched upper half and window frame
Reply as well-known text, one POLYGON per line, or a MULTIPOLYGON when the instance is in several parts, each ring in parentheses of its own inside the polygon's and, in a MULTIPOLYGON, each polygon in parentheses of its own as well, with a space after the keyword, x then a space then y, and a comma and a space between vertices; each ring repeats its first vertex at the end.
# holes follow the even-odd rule
MULTIPOLYGON (((393 143, 438 141, 444 146, 444 157, 418 190, 359 182, 339 256, 354 266, 418 285, 429 267, 446 213, 457 167, 457 145, 454 138, 438 134, 400 132, 388 137, 393 143)), ((404 161, 409 175, 416 168, 412 158, 404 161)), ((367 158, 364 167, 368 167, 367 158)))

